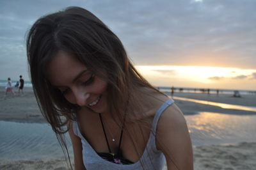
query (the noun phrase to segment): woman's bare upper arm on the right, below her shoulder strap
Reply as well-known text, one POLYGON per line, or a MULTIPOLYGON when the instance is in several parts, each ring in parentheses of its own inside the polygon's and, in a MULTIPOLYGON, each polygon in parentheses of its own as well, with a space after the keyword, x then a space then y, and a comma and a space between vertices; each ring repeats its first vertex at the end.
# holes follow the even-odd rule
POLYGON ((193 169, 188 127, 177 105, 170 105, 161 115, 157 125, 156 144, 166 157, 168 169, 193 169))

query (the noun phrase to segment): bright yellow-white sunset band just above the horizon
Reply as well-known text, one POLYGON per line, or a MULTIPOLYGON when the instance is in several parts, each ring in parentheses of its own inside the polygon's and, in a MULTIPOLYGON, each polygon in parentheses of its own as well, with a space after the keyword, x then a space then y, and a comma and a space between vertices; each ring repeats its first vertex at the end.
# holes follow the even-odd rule
POLYGON ((214 66, 136 66, 155 86, 255 89, 256 70, 214 66), (246 86, 245 86, 246 85, 246 86))

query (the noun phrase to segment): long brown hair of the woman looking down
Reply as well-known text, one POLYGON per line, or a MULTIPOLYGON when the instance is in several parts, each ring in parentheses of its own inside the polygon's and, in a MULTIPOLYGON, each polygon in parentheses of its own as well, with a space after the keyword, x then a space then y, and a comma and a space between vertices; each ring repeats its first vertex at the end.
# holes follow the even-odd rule
MULTIPOLYGON (((59 50, 68 52, 108 82, 110 111, 120 120, 128 95, 129 105, 138 108, 134 89, 147 87, 159 92, 134 68, 118 37, 88 10, 69 7, 36 20, 27 36, 31 82, 40 111, 66 151, 63 134, 68 130, 68 121, 76 120, 79 107, 67 102, 47 80, 45 70, 59 50)), ((137 114, 127 116, 136 118, 137 114)))

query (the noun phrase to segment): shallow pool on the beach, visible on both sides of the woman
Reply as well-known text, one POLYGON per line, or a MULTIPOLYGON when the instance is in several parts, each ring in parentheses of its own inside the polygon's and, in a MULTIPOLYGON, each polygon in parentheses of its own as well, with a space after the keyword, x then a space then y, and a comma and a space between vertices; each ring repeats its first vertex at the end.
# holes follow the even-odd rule
MULTIPOLYGON (((256 142, 256 114, 200 112, 185 118, 194 146, 256 142)), ((67 141, 72 157, 68 135, 67 141)), ((0 160, 40 158, 63 158, 60 144, 49 125, 0 121, 0 160)))

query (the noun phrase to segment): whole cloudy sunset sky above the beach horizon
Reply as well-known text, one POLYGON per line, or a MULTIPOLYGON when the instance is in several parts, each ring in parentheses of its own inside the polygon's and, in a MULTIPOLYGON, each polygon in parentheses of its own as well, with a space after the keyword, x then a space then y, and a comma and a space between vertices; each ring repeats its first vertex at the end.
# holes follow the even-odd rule
POLYGON ((67 6, 109 26, 154 86, 256 90, 255 0, 0 0, 0 79, 29 80, 26 33, 67 6))

